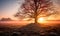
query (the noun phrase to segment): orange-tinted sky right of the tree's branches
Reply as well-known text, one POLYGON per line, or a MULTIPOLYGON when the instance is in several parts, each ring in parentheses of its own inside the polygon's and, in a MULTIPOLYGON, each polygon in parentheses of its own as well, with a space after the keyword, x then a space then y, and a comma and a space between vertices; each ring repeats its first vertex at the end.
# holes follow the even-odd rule
POLYGON ((57 11, 57 15, 51 15, 48 17, 50 20, 60 20, 60 0, 52 0, 55 10, 57 11))

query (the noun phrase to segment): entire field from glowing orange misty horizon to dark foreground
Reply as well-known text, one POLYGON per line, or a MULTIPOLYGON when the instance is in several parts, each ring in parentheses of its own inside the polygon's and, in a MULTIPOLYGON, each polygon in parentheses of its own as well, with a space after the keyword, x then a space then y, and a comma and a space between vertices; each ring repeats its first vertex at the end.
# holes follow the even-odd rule
POLYGON ((60 36, 60 21, 0 21, 0 36, 60 36))

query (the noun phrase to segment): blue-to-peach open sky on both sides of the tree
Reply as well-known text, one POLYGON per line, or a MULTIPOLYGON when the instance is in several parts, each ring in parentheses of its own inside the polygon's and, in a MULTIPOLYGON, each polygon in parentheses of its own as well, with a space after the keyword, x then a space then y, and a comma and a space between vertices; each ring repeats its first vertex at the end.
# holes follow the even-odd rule
MULTIPOLYGON (((60 11, 60 0, 52 0, 57 7, 56 9, 60 11)), ((0 18, 12 18, 17 19, 14 17, 14 14, 17 13, 19 6, 23 3, 23 0, 0 0, 0 18), (20 4, 19 4, 20 2, 20 4)), ((60 13, 60 12, 59 12, 60 13)), ((56 19, 60 19, 59 15, 56 19)), ((51 18, 51 17, 50 17, 51 18)))

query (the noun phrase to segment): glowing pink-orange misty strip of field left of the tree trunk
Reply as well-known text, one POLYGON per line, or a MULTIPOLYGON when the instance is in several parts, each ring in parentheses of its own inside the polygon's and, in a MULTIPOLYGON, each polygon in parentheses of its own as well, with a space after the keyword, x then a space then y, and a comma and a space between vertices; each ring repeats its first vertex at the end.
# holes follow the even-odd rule
POLYGON ((0 27, 9 27, 9 28, 15 28, 15 27, 21 27, 24 25, 27 25, 31 22, 27 21, 0 21, 0 27))

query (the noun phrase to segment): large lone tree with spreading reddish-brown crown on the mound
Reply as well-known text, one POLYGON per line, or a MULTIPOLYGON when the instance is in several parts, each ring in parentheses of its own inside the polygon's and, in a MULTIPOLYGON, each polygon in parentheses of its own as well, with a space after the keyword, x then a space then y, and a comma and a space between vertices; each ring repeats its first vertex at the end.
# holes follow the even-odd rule
POLYGON ((56 11, 51 0, 25 0, 15 17, 34 18, 35 23, 37 23, 38 16, 47 17, 55 13, 56 11))

